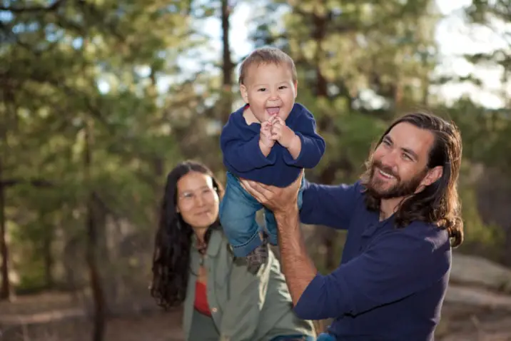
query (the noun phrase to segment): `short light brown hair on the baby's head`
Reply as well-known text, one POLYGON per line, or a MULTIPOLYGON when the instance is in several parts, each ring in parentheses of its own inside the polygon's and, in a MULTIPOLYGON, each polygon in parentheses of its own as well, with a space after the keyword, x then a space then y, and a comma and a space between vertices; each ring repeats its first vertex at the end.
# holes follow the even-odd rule
POLYGON ((288 56, 285 52, 275 47, 265 46, 259 49, 255 49, 247 58, 241 63, 240 66, 240 78, 238 79, 240 84, 246 79, 248 68, 251 65, 259 66, 260 64, 275 65, 287 64, 293 73, 293 82, 297 81, 298 76, 296 75, 296 67, 293 59, 288 56))

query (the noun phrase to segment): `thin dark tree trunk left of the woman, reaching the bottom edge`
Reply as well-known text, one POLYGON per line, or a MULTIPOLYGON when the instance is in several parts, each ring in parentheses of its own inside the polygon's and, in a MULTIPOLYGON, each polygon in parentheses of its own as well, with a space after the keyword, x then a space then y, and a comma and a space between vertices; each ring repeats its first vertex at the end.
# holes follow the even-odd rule
MULTIPOLYGON (((85 132, 85 151, 84 151, 84 167, 86 185, 91 183, 91 168, 92 168, 92 124, 86 126, 85 132)), ((96 226, 96 205, 95 205, 94 190, 88 195, 86 203, 86 232, 87 232, 87 249, 86 260, 88 266, 88 275, 91 285, 93 297, 93 341, 102 341, 106 329, 106 301, 103 291, 103 284, 101 283, 101 275, 99 273, 96 253, 98 249, 98 229, 96 226)))

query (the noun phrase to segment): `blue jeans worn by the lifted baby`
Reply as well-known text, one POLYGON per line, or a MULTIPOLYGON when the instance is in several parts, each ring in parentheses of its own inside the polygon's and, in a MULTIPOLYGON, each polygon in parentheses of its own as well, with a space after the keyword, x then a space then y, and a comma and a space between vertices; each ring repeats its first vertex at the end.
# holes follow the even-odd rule
MULTIPOLYGON (((298 192, 298 208, 302 207, 303 183, 298 192)), ((270 244, 277 245, 277 223, 273 212, 248 193, 235 175, 227 172, 226 191, 220 203, 220 223, 236 257, 245 257, 262 244, 255 213, 264 209, 266 232, 270 244)))

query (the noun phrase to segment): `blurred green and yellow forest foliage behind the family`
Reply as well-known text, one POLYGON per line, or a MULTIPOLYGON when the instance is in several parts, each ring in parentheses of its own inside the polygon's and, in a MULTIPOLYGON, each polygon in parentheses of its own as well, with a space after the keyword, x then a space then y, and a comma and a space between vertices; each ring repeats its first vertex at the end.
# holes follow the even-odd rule
MULTIPOLYGON (((473 75, 432 78, 441 62, 435 1, 228 2, 228 11, 253 6, 248 28, 254 46, 273 44, 295 59, 298 101, 314 113, 327 141, 320 165, 307 172, 310 180, 355 180, 390 120, 428 108, 452 118, 464 139, 460 192, 467 248, 462 250, 490 245, 481 249, 485 255, 503 259, 502 240, 511 238, 511 225, 482 217, 482 175, 473 173, 477 166, 482 174, 490 169, 510 174, 510 113, 467 98, 446 106, 431 95, 437 83, 481 84, 473 75), (500 251, 487 252, 495 249, 500 251)), ((196 158, 223 179, 218 134, 226 116, 221 103, 226 68, 223 56, 208 52, 218 42, 204 31, 208 20, 220 18, 221 4, 2 2, 0 181, 17 288, 65 287, 70 276, 76 283, 86 280, 85 223, 92 194, 101 269, 113 283, 106 284, 107 291, 117 295, 136 283, 147 295, 166 173, 184 158, 196 158)), ((474 0, 466 20, 509 22, 507 7, 505 1, 474 0)), ((496 34, 509 42, 509 32, 496 34)), ((509 47, 467 61, 499 65, 507 81, 509 47)), ((239 103, 236 99, 233 108, 239 103)), ((509 176, 495 181, 508 182, 509 176)), ((334 258, 339 257, 337 248, 334 258)))

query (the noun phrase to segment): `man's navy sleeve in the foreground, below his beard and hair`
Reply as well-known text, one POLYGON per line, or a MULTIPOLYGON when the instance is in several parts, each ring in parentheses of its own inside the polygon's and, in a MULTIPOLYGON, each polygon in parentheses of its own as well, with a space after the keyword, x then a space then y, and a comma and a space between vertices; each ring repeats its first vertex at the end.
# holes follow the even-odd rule
POLYGON ((449 241, 447 233, 442 236, 385 233, 330 275, 316 275, 295 305, 296 315, 310 320, 358 315, 424 290, 449 270, 449 241))

